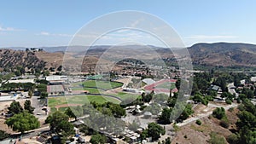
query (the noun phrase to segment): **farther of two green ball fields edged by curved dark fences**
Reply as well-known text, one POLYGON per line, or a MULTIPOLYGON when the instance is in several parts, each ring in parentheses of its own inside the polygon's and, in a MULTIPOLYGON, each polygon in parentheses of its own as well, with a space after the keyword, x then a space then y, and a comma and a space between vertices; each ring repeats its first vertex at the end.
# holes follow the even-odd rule
POLYGON ((85 81, 83 84, 85 88, 96 87, 99 89, 113 89, 113 88, 121 87, 123 85, 117 82, 95 81, 95 80, 88 80, 88 81, 85 81))

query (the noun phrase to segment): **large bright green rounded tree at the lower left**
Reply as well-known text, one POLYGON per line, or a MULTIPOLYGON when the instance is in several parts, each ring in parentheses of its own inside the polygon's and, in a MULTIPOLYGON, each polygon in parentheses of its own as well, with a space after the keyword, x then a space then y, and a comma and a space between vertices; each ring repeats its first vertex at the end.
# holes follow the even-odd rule
POLYGON ((38 118, 26 111, 15 114, 12 118, 8 118, 5 124, 14 131, 20 131, 21 134, 24 134, 27 130, 38 129, 40 126, 38 118))

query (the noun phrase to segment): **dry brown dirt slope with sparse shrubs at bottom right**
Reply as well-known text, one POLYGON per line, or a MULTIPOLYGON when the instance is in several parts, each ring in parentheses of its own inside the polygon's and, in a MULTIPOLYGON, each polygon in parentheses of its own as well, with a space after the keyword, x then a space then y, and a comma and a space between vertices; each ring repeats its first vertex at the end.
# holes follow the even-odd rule
MULTIPOLYGON (((180 128, 177 131, 177 135, 172 140, 173 144, 205 144, 209 143, 211 132, 216 132, 218 135, 221 135, 227 138, 232 134, 232 130, 236 130, 236 121, 237 116, 236 113, 239 112, 237 108, 234 108, 233 111, 226 111, 227 118, 230 121, 229 129, 225 129, 224 127, 219 125, 219 120, 217 118, 207 117, 201 118, 201 125, 195 124, 195 122, 191 124, 187 124, 180 128)), ((228 143, 228 142, 227 142, 228 143)))

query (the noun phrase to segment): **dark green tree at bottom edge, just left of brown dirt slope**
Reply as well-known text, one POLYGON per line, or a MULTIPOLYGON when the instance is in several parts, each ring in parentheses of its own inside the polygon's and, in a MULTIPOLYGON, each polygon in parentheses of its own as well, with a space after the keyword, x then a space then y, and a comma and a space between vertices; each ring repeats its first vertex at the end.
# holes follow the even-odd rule
POLYGON ((152 137, 153 141, 160 138, 160 135, 165 135, 166 130, 162 128, 159 124, 150 123, 148 124, 148 136, 152 137))

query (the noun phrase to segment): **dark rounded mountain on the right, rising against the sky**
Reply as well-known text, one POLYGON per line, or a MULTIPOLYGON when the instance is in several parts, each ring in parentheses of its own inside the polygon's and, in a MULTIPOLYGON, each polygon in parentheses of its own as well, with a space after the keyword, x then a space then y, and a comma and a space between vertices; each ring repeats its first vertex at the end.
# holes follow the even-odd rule
POLYGON ((256 66, 256 45, 247 43, 197 43, 189 48, 196 65, 256 66))

